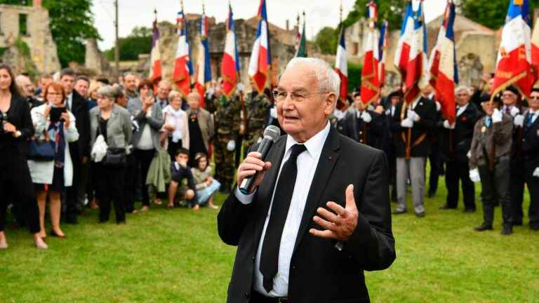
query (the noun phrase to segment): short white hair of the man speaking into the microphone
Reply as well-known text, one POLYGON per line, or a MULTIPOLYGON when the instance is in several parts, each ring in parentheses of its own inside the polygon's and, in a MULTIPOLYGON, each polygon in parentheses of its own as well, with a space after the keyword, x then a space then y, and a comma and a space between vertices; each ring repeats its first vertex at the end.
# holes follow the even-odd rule
POLYGON ((314 76, 318 81, 318 89, 321 92, 339 95, 340 77, 333 68, 331 68, 328 62, 319 58, 293 58, 288 62, 288 65, 286 65, 286 69, 295 67, 296 65, 307 65, 307 67, 314 70, 314 76))

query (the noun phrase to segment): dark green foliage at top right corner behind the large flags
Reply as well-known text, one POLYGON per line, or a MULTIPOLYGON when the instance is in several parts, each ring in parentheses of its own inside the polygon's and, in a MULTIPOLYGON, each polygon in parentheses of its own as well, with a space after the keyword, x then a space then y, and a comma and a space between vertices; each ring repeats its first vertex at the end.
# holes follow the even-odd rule
MULTIPOLYGON (((509 1, 463 0, 462 2, 462 13, 467 18, 491 29, 498 29, 504 25, 509 1)), ((539 0, 530 0, 528 3, 530 12, 539 8, 539 0)))

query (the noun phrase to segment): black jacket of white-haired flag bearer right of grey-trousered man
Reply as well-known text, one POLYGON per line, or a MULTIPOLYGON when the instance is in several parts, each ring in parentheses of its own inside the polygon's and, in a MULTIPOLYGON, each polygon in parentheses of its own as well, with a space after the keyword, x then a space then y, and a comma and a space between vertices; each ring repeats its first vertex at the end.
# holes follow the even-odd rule
POLYGON ((467 153, 472 146, 472 139, 474 137, 475 123, 483 114, 479 112, 477 106, 469 102, 468 106, 460 116, 455 119, 455 128, 449 130, 444 128, 444 122, 439 123, 439 129, 441 131, 441 152, 444 155, 444 159, 448 161, 459 161, 461 163, 468 163, 467 153))

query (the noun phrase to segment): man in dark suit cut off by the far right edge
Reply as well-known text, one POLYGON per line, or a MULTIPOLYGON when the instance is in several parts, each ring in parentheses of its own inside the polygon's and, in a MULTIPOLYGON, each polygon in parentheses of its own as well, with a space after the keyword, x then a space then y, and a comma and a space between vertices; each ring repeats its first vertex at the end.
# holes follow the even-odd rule
MULTIPOLYGON (((539 230, 539 89, 533 88, 529 99, 529 109, 524 115, 523 135, 518 144, 524 162, 522 171, 524 182, 530 191, 530 208, 528 218, 530 228, 539 230)), ((522 223, 522 199, 513 203, 514 222, 522 223)))

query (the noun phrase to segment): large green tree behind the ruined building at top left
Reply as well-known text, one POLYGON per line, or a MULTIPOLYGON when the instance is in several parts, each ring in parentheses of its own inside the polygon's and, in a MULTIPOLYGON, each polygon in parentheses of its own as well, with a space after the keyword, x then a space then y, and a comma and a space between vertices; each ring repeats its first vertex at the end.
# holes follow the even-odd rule
POLYGON ((44 0, 51 17, 51 32, 62 67, 69 62, 84 62, 86 39, 100 39, 93 26, 91 0, 44 0))

